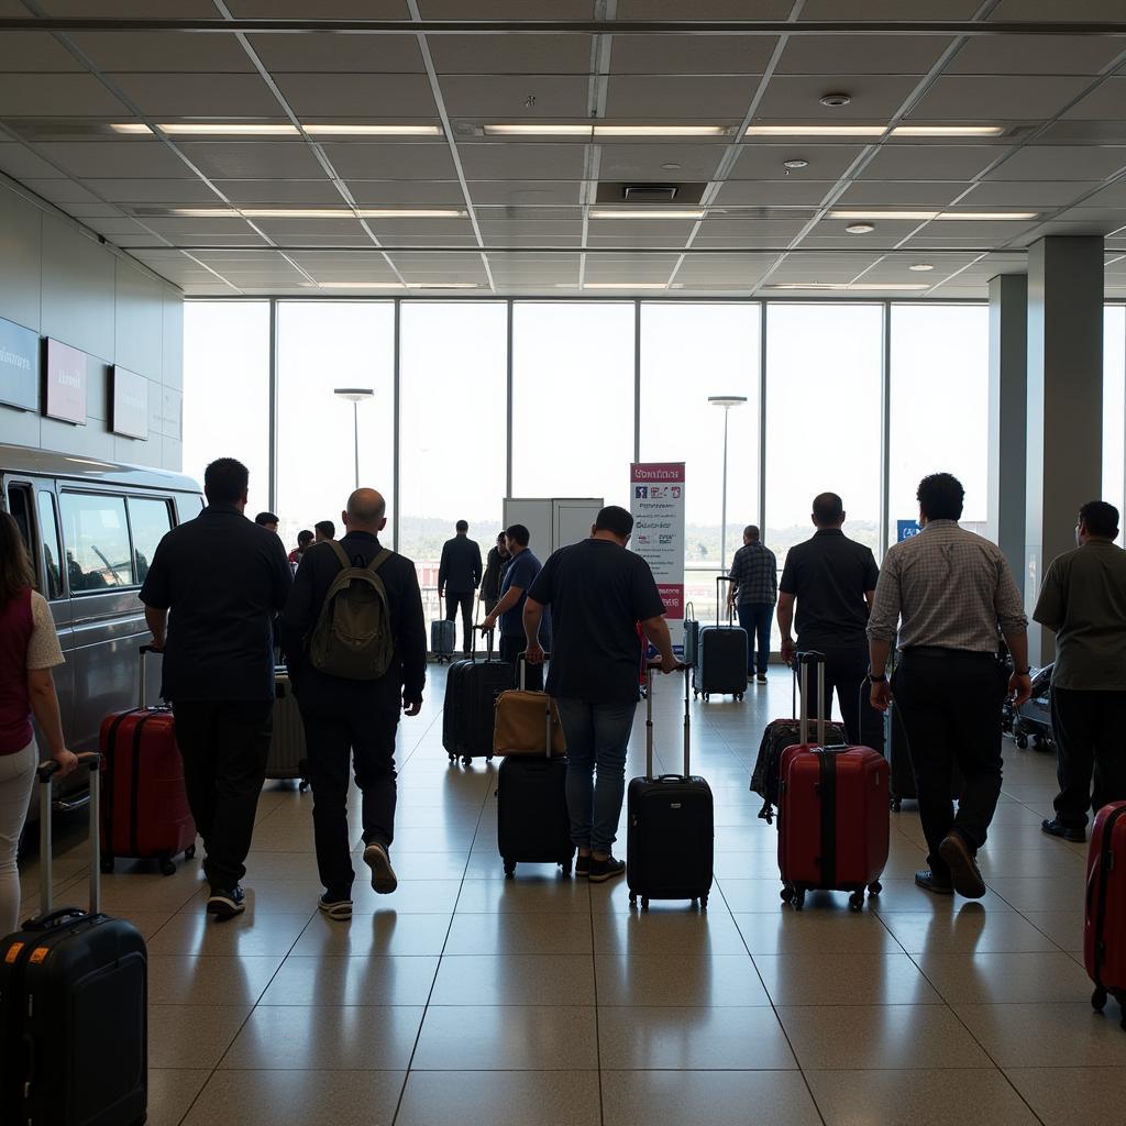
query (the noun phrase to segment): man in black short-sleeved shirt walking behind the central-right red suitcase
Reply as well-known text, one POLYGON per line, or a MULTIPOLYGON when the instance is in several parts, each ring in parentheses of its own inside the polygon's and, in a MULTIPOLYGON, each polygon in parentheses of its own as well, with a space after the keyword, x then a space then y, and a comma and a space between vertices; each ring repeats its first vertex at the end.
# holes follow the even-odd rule
POLYGON ((879 570, 870 547, 841 530, 844 503, 837 493, 813 499, 811 516, 817 529, 786 555, 778 596, 781 659, 815 651, 825 656, 825 698, 817 715, 832 715, 833 690, 850 743, 883 751, 884 724, 865 691, 868 679, 868 608, 879 570), (797 604, 797 644, 790 633, 797 604), (863 697, 863 699, 861 699, 863 697))

